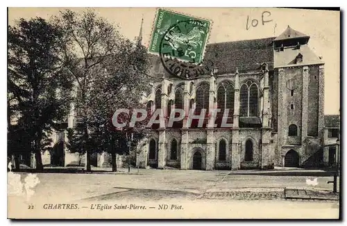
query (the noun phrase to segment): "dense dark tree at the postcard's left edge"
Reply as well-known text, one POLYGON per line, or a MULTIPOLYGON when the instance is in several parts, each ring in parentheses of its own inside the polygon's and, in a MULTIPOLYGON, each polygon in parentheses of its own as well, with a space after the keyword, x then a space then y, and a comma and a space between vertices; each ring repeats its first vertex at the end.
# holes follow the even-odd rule
POLYGON ((40 17, 8 26, 9 153, 35 151, 37 168, 51 129, 69 111, 71 80, 62 69, 60 38, 62 31, 40 17))

